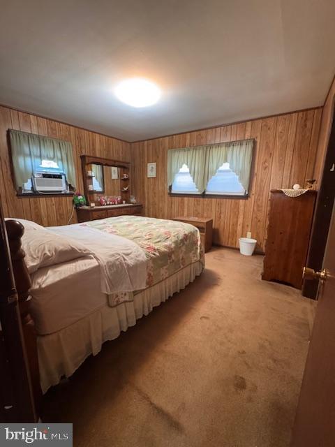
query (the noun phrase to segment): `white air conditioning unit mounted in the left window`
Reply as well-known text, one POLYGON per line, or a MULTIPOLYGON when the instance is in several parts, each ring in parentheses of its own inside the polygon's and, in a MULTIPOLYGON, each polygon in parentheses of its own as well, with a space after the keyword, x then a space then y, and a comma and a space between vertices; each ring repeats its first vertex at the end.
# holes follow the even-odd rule
POLYGON ((33 188, 36 193, 66 193, 68 185, 66 175, 57 169, 39 169, 32 177, 33 188))

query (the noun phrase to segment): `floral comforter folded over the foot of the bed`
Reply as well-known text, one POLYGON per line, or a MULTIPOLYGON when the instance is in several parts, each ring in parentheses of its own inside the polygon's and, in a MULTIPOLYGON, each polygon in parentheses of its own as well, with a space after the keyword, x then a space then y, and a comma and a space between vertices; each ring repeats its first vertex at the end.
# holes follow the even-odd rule
POLYGON ((139 216, 119 216, 89 221, 105 233, 126 237, 138 244, 147 256, 147 287, 170 277, 196 261, 204 264, 198 228, 188 223, 139 216))

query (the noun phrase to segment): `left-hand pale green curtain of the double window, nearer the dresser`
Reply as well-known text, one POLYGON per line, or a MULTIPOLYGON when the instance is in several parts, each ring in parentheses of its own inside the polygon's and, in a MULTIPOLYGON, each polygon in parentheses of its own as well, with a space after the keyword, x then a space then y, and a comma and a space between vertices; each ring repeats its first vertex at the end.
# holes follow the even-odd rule
POLYGON ((168 189, 170 189, 174 177, 184 164, 188 166, 198 191, 203 193, 207 185, 205 176, 206 152, 203 146, 184 147, 183 149, 170 149, 168 151, 168 189))

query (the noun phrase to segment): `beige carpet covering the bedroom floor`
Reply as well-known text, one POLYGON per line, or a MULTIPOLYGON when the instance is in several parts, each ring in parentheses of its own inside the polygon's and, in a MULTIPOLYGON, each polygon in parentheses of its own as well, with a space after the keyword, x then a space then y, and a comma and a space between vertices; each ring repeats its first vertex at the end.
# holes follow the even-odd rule
POLYGON ((262 256, 202 276, 45 396, 80 447, 288 446, 314 302, 261 281, 262 256))

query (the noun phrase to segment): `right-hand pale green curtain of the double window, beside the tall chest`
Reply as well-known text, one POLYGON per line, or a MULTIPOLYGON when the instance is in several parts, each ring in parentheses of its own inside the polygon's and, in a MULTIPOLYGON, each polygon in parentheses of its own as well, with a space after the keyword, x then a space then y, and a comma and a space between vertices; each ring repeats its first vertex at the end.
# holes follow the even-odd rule
POLYGON ((253 140, 234 141, 207 146, 207 182, 216 175, 223 163, 239 177, 246 191, 249 189, 253 140))

